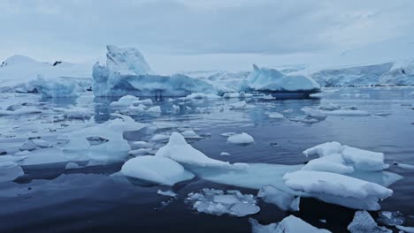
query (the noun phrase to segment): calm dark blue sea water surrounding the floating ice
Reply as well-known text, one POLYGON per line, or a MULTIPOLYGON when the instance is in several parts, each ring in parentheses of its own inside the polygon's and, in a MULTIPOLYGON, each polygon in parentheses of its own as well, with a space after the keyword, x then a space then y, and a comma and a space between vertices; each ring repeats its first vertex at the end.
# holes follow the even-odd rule
MULTIPOLYGON (((414 226, 414 170, 401 169, 393 162, 414 164, 414 109, 408 94, 411 87, 349 87, 329 88, 318 98, 245 100, 248 109, 228 110, 223 106, 242 101, 196 100, 182 101, 165 98, 154 100, 162 113, 140 114, 135 121, 163 125, 165 132, 194 129, 203 139, 191 145, 211 158, 229 162, 303 164, 302 151, 326 141, 383 152, 391 164, 389 171, 402 175, 403 180, 390 188, 394 195, 381 202, 382 210, 400 211, 406 216, 404 225, 414 226), (318 107, 334 103, 342 108, 355 106, 371 116, 327 116, 318 123, 297 122, 303 117, 303 107, 318 107), (172 111, 173 104, 180 112, 172 111), (190 109, 186 108, 189 107, 190 109), (198 109, 197 109, 198 108, 198 109), (223 110, 222 110, 223 109, 223 110), (283 119, 268 115, 280 112, 283 119), (248 132, 256 142, 249 146, 228 145, 223 132, 248 132), (230 156, 220 156, 223 151, 230 156)), ((94 116, 85 121, 58 121, 50 111, 41 115, 1 116, 0 148, 10 154, 28 138, 41 136, 58 145, 57 136, 63 132, 102 123, 117 109, 109 106, 112 100, 95 99, 84 95, 76 100, 41 100, 32 94, 4 94, 2 104, 10 101, 43 102, 42 106, 67 108, 71 104, 88 107, 94 116), (56 130, 56 131, 55 131, 56 130)), ((58 115, 58 113, 56 114, 58 115)), ((128 139, 142 139, 131 133, 128 139)), ((148 136, 147 136, 148 137, 148 136)), ((249 232, 248 217, 200 214, 187 203, 189 192, 203 188, 237 189, 257 194, 256 190, 216 184, 196 177, 173 186, 177 199, 157 195, 165 186, 141 187, 123 177, 113 177, 122 162, 65 169, 65 164, 24 166, 25 176, 0 184, 0 232, 249 232)), ((355 210, 326 204, 316 199, 302 199, 301 210, 284 212, 259 200, 261 211, 250 216, 263 224, 279 222, 295 214, 318 228, 334 232, 346 230, 355 210), (320 222, 325 219, 326 223, 320 222)), ((378 213, 372 212, 376 217, 378 213)))

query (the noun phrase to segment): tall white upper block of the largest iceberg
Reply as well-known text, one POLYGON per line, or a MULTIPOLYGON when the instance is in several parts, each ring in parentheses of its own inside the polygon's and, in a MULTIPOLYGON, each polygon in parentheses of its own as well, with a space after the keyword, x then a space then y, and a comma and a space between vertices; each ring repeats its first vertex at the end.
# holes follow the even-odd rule
POLYGON ((106 66, 121 74, 152 74, 151 68, 140 50, 107 45, 106 66))

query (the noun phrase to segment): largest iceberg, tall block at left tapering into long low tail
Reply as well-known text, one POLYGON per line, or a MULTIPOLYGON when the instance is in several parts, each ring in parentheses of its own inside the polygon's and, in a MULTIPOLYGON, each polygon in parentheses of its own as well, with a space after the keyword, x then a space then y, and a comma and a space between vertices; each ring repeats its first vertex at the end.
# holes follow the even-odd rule
POLYGON ((96 96, 187 96, 192 93, 221 94, 207 80, 183 74, 154 74, 142 54, 134 48, 106 47, 106 66, 93 67, 93 91, 96 96))

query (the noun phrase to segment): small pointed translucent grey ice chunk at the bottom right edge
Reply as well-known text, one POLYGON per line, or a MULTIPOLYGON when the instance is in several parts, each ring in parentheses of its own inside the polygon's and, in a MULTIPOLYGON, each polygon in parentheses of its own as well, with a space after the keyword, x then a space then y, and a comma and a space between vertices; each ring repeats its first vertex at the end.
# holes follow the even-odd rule
POLYGON ((377 222, 372 219, 372 216, 366 211, 357 211, 354 215, 354 220, 349 223, 348 230, 351 233, 392 233, 391 229, 378 226, 377 222))

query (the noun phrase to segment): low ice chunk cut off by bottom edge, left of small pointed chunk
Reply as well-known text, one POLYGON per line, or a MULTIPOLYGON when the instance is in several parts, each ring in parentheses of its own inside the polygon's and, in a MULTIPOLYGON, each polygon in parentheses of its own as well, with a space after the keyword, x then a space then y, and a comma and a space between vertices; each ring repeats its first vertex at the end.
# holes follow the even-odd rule
POLYGON ((281 222, 272 223, 270 225, 261 225, 257 220, 249 219, 251 224, 251 232, 253 233, 296 233, 296 232, 306 232, 306 233, 328 233, 331 232, 327 229, 318 229, 304 222, 302 219, 295 217, 294 215, 289 215, 284 218, 281 222))

